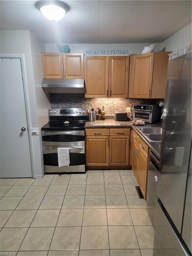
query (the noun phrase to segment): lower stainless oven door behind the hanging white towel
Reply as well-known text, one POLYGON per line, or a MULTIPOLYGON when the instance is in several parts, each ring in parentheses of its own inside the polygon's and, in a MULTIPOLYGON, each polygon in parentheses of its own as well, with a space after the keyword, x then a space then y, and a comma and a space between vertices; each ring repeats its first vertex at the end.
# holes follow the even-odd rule
POLYGON ((69 166, 58 166, 58 146, 43 146, 45 172, 85 172, 85 146, 59 146, 69 148, 69 166))

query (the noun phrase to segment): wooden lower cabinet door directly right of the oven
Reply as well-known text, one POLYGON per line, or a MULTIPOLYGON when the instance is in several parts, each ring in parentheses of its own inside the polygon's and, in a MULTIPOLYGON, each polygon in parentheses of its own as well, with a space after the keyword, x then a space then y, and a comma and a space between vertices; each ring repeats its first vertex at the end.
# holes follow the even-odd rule
POLYGON ((86 136, 86 166, 109 166, 109 136, 86 136))

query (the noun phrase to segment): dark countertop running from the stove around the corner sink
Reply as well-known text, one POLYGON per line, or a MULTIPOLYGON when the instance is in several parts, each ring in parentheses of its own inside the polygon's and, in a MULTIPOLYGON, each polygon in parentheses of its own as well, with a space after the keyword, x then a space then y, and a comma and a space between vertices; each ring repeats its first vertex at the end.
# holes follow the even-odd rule
POLYGON ((159 159, 160 158, 161 142, 148 141, 143 136, 143 133, 138 128, 140 128, 140 127, 162 127, 162 123, 146 124, 143 126, 135 126, 135 125, 131 125, 131 122, 132 121, 118 122, 118 121, 115 121, 112 119, 107 119, 105 121, 97 120, 95 122, 87 121, 85 123, 85 128, 132 128, 141 137, 141 139, 148 145, 148 147, 155 154, 155 156, 159 159))

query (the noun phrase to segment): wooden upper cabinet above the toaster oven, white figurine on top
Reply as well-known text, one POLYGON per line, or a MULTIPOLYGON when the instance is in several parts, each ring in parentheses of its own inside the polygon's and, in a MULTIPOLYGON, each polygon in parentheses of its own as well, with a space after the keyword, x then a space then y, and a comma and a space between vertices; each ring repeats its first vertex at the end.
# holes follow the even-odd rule
POLYGON ((130 57, 130 98, 165 98, 169 53, 153 52, 130 57))

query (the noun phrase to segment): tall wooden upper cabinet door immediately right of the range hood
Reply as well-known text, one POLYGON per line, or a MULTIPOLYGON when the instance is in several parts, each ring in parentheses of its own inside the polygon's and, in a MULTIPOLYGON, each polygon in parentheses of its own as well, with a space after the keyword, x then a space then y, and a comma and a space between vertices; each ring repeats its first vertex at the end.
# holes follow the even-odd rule
POLYGON ((109 78, 108 56, 85 56, 85 97, 107 98, 109 78))

